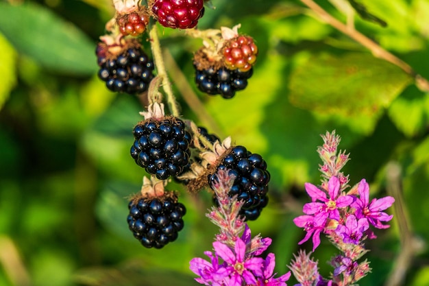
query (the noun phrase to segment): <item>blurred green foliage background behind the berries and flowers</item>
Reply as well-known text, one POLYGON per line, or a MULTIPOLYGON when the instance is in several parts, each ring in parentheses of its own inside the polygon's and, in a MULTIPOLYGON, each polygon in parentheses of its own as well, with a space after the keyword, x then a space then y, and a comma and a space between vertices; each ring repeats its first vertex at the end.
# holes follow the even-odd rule
MULTIPOLYGON (((347 1, 318 3, 347 21, 347 1)), ((356 14, 356 29, 429 78, 429 2, 359 3, 387 27, 356 14)), ((286 271, 303 236, 292 219, 308 202, 304 182, 320 180, 319 135, 336 130, 341 149, 351 153, 351 184, 366 178, 371 195, 387 195, 387 165, 400 166, 400 218, 421 243, 402 265, 402 283, 429 285, 428 94, 300 1, 212 4, 200 29, 241 23, 240 32, 256 40, 260 52, 247 89, 230 100, 199 93, 192 57, 201 40, 160 27, 162 47, 182 73, 171 61, 167 70, 174 86, 186 84, 180 75, 191 86, 189 94, 175 90, 184 118, 267 160, 269 206, 249 225, 254 235, 273 238, 277 272, 286 271), (205 112, 186 104, 194 93, 205 112)), ((145 176, 129 154, 143 107, 132 95, 108 91, 96 75, 95 46, 113 14, 109 0, 0 2, 0 285, 197 285, 188 261, 210 250, 217 233, 204 215, 210 194, 169 184, 188 213, 177 241, 162 250, 143 248, 127 229, 127 196, 145 176)), ((398 222, 368 241, 373 273, 361 285, 384 285, 402 263, 398 222)), ((325 276, 334 254, 326 240, 315 253, 325 276)))

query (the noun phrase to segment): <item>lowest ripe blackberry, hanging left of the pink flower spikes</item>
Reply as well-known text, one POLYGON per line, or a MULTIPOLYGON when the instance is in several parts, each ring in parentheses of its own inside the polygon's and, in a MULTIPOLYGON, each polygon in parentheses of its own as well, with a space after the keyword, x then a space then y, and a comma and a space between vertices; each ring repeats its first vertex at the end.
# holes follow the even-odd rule
POLYGON ((177 239, 186 208, 177 197, 139 198, 128 204, 127 222, 134 237, 145 248, 162 248, 177 239))

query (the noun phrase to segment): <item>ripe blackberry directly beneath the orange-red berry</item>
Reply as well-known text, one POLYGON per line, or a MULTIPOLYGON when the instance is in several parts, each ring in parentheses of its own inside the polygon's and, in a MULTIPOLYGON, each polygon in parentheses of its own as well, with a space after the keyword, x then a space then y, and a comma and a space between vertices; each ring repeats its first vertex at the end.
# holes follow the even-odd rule
POLYGON ((195 82, 200 91, 209 95, 221 95, 225 99, 234 97, 236 91, 246 88, 247 80, 252 77, 252 67, 248 71, 239 69, 229 70, 222 67, 218 70, 213 68, 199 71, 195 67, 195 82))

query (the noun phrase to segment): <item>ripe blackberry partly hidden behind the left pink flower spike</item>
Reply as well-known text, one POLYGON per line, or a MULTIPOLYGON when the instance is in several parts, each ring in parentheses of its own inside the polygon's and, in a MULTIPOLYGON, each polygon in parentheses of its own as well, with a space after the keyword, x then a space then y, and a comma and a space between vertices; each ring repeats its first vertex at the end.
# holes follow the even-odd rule
MULTIPOLYGON (((232 147, 229 154, 223 157, 217 170, 229 169, 234 176, 234 184, 231 187, 230 198, 234 195, 238 196, 238 200, 243 200, 244 204, 240 214, 246 220, 257 219, 262 208, 268 203, 268 182, 270 180, 269 172, 267 171, 267 163, 259 154, 252 154, 243 146, 232 147)), ((214 175, 208 175, 210 186, 214 175)), ((217 198, 213 198, 215 204, 217 198)))

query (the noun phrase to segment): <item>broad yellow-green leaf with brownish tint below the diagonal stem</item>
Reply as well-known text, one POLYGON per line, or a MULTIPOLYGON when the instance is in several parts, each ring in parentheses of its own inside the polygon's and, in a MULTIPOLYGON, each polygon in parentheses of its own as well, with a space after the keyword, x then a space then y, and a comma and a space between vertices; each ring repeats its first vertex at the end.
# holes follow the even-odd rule
POLYGON ((321 114, 372 117, 409 83, 401 69, 369 53, 321 53, 292 71, 289 98, 321 114))

